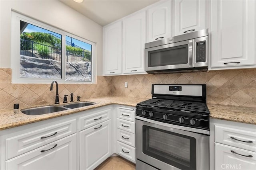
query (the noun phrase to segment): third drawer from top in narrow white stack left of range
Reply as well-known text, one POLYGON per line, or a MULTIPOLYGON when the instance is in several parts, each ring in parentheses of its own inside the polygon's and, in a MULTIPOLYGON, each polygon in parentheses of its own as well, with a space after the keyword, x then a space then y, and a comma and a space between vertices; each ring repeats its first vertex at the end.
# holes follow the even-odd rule
POLYGON ((118 141, 131 145, 132 147, 135 147, 134 133, 126 132, 121 129, 116 129, 116 137, 118 141))

